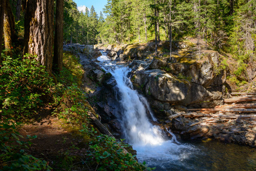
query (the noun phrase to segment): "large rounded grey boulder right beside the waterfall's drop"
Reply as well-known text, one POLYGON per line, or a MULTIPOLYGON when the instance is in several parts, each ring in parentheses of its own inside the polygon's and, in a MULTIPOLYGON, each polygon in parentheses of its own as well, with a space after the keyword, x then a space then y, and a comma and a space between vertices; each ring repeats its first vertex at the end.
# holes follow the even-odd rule
POLYGON ((189 82, 186 79, 178 79, 176 76, 158 69, 138 69, 132 76, 132 82, 145 95, 164 103, 179 105, 205 104, 222 99, 222 92, 210 92, 200 84, 189 82))

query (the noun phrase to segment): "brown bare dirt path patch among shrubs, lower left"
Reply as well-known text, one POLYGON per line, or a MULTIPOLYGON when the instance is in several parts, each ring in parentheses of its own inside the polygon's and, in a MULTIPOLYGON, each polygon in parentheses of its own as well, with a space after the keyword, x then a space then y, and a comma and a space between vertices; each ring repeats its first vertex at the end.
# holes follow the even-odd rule
MULTIPOLYGON (((51 115, 52 109, 43 109, 40 113, 42 119, 34 123, 25 124, 19 128, 23 137, 37 136, 30 140, 32 145, 27 153, 46 160, 54 170, 70 170, 74 166, 76 158, 81 158, 87 153, 87 145, 77 131, 67 127, 64 121, 51 115)), ((27 141, 27 139, 23 139, 27 141)), ((78 160, 81 162, 81 160, 78 160)), ((80 166, 79 166, 80 168, 80 166)), ((80 168, 79 170, 88 170, 80 168)))

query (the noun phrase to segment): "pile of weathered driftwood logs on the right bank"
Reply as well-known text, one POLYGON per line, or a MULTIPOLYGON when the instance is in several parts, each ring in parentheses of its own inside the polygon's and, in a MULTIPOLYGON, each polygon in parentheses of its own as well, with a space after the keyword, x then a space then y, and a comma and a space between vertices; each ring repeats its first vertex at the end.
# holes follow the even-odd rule
POLYGON ((169 119, 178 120, 177 117, 182 116, 196 119, 196 123, 191 124, 191 127, 206 125, 228 134, 245 131, 256 133, 256 93, 231 93, 231 95, 235 97, 224 99, 224 105, 188 109, 189 112, 177 113, 169 116, 169 119))

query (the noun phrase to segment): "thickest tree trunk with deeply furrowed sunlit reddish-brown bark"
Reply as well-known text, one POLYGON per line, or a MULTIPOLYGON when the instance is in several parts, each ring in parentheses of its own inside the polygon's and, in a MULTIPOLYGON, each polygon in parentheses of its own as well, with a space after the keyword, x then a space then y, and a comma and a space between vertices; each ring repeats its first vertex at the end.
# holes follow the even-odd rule
POLYGON ((27 1, 35 6, 34 18, 30 21, 28 52, 37 55, 36 60, 52 71, 53 30, 54 30, 54 1, 36 0, 36 3, 27 1))

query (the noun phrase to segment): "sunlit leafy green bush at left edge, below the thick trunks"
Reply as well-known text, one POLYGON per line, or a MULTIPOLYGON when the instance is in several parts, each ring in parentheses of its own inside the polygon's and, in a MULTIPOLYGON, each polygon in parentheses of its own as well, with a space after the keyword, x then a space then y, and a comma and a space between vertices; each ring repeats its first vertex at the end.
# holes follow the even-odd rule
POLYGON ((5 56, 0 70, 0 107, 5 117, 33 117, 43 103, 55 103, 54 92, 60 91, 52 78, 36 60, 36 56, 23 58, 5 56))

